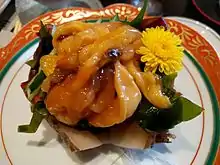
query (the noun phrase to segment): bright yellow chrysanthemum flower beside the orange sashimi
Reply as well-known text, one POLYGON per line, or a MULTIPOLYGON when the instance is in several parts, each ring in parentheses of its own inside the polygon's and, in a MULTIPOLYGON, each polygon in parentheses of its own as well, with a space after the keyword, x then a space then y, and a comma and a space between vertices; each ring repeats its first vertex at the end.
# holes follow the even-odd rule
POLYGON ((166 75, 178 72, 182 68, 183 50, 181 39, 164 27, 149 28, 142 33, 143 45, 136 52, 141 54, 145 71, 166 75))

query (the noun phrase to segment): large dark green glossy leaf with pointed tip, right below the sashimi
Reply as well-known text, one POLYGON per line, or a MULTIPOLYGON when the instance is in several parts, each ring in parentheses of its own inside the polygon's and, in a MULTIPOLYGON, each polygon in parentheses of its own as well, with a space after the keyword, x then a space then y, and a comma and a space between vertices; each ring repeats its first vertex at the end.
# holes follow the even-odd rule
POLYGON ((178 97, 170 109, 158 109, 143 99, 134 119, 143 129, 162 132, 181 122, 192 120, 201 112, 201 107, 184 97, 178 97))

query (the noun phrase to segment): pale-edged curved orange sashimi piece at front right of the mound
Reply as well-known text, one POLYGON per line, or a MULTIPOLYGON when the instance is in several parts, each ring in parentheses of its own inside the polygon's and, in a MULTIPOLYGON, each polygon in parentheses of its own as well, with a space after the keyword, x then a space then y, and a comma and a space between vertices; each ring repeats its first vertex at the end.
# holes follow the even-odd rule
POLYGON ((106 110, 88 118, 91 125, 110 127, 123 122, 135 112, 141 101, 141 93, 132 76, 119 61, 115 63, 114 86, 117 98, 106 110))

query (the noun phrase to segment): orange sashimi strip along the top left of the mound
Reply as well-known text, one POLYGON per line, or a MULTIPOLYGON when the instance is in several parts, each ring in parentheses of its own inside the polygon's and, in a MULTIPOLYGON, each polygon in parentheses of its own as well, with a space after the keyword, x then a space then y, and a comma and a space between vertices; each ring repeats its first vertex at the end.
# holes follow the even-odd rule
POLYGON ((79 64, 82 64, 82 59, 85 61, 89 58, 89 56, 86 56, 86 59, 84 58, 84 47, 92 45, 94 41, 104 35, 107 35, 120 25, 120 23, 94 24, 88 29, 80 31, 73 36, 71 35, 63 38, 60 42, 58 42, 57 46, 57 54, 58 56, 62 56, 62 58, 57 62, 57 67, 69 70, 77 68, 79 64))

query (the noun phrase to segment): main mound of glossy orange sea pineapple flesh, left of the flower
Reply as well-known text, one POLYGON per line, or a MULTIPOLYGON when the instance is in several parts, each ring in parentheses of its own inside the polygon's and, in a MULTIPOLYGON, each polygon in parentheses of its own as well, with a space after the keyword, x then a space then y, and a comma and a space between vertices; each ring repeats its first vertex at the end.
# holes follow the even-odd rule
MULTIPOLYGON (((142 44, 140 38, 140 32, 122 23, 71 22, 58 27, 53 39, 59 57, 56 69, 74 74, 49 90, 45 100, 48 111, 68 125, 88 119, 95 127, 109 127, 132 116, 141 100, 139 89, 143 85, 135 82, 133 66, 123 65, 135 58, 135 51, 142 44), (59 41, 61 35, 68 36, 59 41), (119 49, 121 56, 112 59, 106 53, 110 49, 119 49), (118 77, 109 63, 118 63, 118 77), (103 79, 97 78, 100 70, 103 79)), ((141 80, 150 83, 148 77, 142 76, 141 80)))

